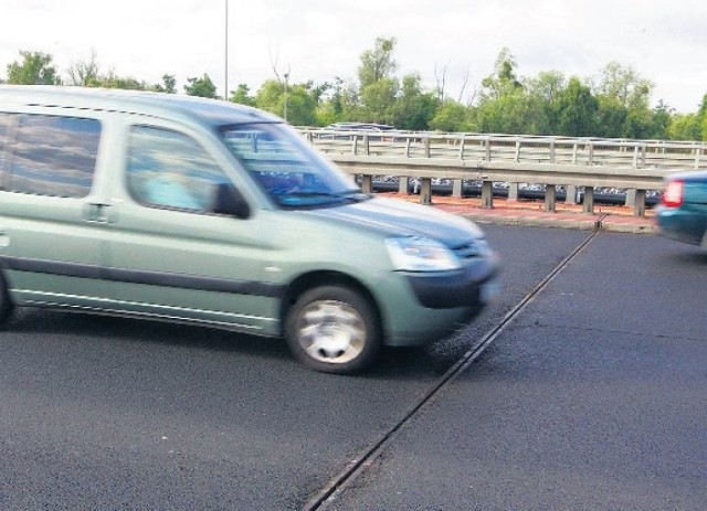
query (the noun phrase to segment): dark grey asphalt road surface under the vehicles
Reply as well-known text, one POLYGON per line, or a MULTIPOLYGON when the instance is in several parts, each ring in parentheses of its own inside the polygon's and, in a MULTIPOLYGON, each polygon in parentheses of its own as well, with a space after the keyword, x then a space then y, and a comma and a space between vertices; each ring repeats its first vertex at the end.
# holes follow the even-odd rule
POLYGON ((707 255, 484 225, 504 291, 342 377, 284 343, 22 310, 0 510, 703 510, 707 255))

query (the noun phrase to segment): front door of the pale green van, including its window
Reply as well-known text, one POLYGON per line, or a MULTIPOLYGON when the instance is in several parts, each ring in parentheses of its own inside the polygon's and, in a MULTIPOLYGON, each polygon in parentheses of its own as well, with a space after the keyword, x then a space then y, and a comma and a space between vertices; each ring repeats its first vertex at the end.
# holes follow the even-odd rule
POLYGON ((181 131, 134 125, 125 168, 108 251, 123 306, 274 332, 278 292, 262 283, 263 226, 217 213, 220 190, 234 183, 215 159, 181 131))

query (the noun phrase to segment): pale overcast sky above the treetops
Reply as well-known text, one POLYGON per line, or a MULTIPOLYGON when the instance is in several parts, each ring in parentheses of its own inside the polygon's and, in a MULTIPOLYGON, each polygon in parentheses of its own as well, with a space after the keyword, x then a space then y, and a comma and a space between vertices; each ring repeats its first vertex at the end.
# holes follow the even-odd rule
POLYGON ((616 62, 653 83, 652 105, 683 114, 707 93, 704 0, 0 0, 0 77, 20 51, 51 54, 62 75, 95 54, 102 73, 171 74, 180 92, 208 74, 219 95, 240 83, 254 94, 275 73, 355 81, 377 38, 395 38, 399 77, 428 89, 444 78, 463 102, 504 49, 521 77, 599 81, 616 62))

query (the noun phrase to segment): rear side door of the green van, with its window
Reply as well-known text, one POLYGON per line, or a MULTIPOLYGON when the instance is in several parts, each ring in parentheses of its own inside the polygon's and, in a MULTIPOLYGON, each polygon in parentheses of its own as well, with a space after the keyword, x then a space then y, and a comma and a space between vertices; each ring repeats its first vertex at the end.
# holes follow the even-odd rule
POLYGON ((105 212, 93 190, 101 121, 0 116, 0 263, 13 301, 103 308, 105 212))

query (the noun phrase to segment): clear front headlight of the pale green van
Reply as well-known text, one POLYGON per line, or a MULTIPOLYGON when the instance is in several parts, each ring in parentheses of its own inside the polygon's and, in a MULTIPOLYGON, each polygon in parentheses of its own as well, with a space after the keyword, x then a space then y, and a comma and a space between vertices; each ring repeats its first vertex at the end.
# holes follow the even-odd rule
POLYGON ((429 237, 391 237, 386 239, 386 247, 399 270, 445 272, 462 267, 452 251, 429 237))

